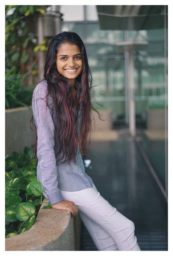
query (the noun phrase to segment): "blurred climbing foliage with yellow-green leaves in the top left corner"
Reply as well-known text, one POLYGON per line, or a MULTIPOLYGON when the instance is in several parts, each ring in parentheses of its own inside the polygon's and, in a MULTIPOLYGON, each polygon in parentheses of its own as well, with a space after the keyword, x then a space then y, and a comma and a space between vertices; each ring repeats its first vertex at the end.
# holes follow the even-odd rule
POLYGON ((37 61, 35 52, 38 49, 47 50, 46 41, 37 46, 36 17, 44 14, 48 6, 6 5, 6 70, 13 73, 26 73, 26 70, 36 73, 34 64, 37 61), (35 48, 37 47, 37 48, 35 48), (25 67, 29 66, 29 67, 25 67))

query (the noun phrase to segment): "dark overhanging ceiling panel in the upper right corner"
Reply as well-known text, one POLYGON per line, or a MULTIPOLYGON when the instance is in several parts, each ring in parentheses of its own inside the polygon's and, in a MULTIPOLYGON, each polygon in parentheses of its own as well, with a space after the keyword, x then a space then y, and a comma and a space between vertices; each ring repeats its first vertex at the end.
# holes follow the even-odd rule
MULTIPOLYGON (((164 28, 162 6, 96 6, 100 29, 143 30, 164 28)), ((165 6, 167 18, 168 8, 165 6)), ((166 19, 167 26, 167 19, 166 19)))

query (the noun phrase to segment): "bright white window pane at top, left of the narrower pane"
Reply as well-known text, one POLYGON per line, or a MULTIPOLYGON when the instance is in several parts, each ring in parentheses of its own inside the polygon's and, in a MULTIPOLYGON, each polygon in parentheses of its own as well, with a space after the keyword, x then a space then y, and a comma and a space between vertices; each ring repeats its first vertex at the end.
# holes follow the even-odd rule
POLYGON ((60 13, 63 14, 63 21, 84 20, 84 6, 60 6, 60 13))

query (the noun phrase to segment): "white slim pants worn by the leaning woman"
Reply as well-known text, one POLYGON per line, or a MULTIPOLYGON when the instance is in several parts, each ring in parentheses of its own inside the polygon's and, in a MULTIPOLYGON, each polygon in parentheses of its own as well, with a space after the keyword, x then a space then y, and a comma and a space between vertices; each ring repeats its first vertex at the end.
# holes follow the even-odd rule
POLYGON ((134 223, 112 207, 95 186, 74 192, 61 190, 61 193, 64 200, 76 204, 97 250, 140 250, 134 223))

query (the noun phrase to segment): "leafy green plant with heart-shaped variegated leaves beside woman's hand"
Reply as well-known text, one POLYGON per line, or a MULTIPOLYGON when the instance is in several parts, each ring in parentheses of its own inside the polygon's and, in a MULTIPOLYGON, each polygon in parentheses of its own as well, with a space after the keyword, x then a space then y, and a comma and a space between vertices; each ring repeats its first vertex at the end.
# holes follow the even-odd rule
MULTIPOLYGON (((30 229, 43 203, 44 188, 42 183, 37 181, 37 160, 31 159, 32 155, 33 150, 27 147, 24 154, 6 154, 6 238, 30 229)), ((49 203, 43 207, 48 208, 52 208, 49 203)))

